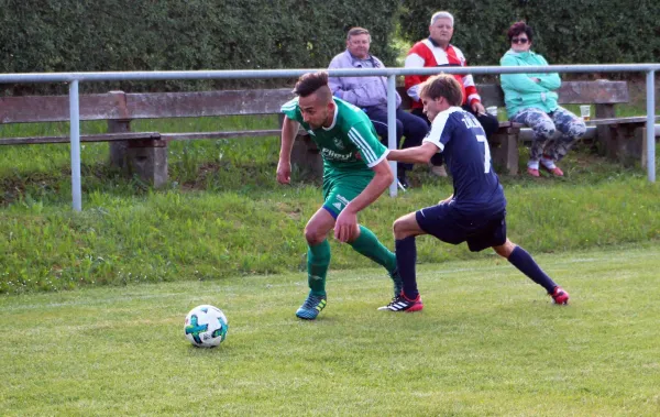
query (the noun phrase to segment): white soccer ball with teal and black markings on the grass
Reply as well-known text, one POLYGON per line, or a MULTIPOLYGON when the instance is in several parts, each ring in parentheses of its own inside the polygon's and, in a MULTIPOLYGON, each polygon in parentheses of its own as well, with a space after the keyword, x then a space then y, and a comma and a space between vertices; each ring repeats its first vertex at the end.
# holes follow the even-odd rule
POLYGON ((190 343, 200 348, 215 348, 227 338, 227 317, 217 307, 197 306, 186 316, 184 333, 190 343))

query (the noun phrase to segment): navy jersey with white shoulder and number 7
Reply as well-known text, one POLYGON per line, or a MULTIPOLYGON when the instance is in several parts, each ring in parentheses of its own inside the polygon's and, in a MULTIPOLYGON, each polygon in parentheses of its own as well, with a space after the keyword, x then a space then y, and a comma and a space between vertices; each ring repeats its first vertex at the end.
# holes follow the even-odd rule
POLYGON ((460 107, 441 111, 424 142, 438 146, 444 156, 453 178, 455 209, 483 217, 504 211, 504 190, 491 166, 486 134, 474 116, 460 107))

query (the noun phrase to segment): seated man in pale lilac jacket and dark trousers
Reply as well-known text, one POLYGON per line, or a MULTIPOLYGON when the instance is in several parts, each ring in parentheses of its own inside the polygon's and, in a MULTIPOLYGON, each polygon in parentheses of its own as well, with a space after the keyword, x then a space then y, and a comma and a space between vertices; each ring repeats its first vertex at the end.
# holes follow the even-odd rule
MULTIPOLYGON (((353 28, 346 36, 346 51, 337 55, 330 62, 328 69, 338 68, 385 68, 381 59, 370 55, 371 36, 364 28, 353 28)), ((366 112, 374 123, 376 133, 383 144, 387 146, 387 79, 386 77, 330 77, 328 84, 332 94, 366 112)), ((426 136, 428 124, 417 116, 399 109, 402 98, 396 94, 396 143, 400 144, 406 136, 403 149, 419 146, 426 136)), ((398 180, 404 187, 409 183, 406 171, 413 164, 399 163, 397 165, 398 180)))

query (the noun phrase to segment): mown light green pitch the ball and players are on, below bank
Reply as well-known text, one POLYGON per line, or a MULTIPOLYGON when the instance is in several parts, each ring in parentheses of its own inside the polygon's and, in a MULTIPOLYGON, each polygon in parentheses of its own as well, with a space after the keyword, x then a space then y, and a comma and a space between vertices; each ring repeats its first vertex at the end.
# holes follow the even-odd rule
POLYGON ((333 271, 314 322, 301 273, 2 296, 0 415, 659 415, 660 249, 536 257, 570 306, 496 256, 420 266, 415 314, 376 310, 382 271, 333 271), (218 349, 184 338, 199 304, 218 349))

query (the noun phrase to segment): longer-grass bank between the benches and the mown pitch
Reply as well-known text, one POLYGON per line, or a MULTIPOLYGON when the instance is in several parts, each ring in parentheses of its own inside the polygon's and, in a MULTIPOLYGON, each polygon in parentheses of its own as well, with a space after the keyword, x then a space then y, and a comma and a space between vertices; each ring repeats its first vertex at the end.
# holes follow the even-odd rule
MULTIPOLYGON (((135 131, 257 129, 274 119, 134 122, 135 131), (218 127, 217 123, 221 123, 218 127)), ((6 136, 66 134, 65 124, 2 128, 6 136), (10 130, 11 129, 11 130, 10 130)), ((84 123, 84 132, 102 131, 84 123)), ((3 146, 0 153, 0 293, 90 284, 217 279, 305 267, 301 235, 321 204, 317 183, 274 178, 278 140, 172 143, 168 189, 154 191, 107 166, 108 145, 82 149, 84 212, 70 208, 67 145, 3 146)), ((520 150, 521 164, 526 151, 520 150)), ((658 160, 658 158, 657 158, 658 160)), ((563 179, 503 176, 510 238, 532 253, 570 251, 660 237, 658 185, 586 149, 562 162, 563 179)), ((395 218, 451 194, 451 183, 418 166, 414 189, 384 196, 360 220, 393 248, 395 218)), ((465 248, 420 239, 419 261, 474 259, 465 248)), ((332 268, 369 266, 332 242, 332 268)))

